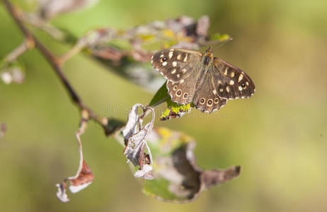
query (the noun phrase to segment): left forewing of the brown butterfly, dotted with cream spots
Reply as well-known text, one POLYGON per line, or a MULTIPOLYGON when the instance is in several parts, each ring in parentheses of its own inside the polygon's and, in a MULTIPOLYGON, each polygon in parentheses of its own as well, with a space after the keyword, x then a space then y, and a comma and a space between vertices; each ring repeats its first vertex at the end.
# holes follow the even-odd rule
POLYGON ((156 52, 151 58, 151 64, 168 81, 177 82, 195 71, 201 57, 200 52, 172 48, 156 52))

